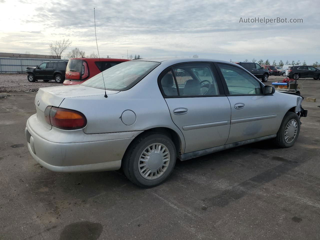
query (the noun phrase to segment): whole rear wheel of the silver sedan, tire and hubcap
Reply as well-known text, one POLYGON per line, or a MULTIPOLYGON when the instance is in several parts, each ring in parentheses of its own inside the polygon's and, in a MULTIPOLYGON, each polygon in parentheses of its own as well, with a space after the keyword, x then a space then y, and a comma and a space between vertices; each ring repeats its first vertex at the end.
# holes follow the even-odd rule
POLYGON ((168 136, 149 133, 132 142, 124 155, 122 168, 134 184, 151 188, 168 179, 176 158, 174 143, 168 136))

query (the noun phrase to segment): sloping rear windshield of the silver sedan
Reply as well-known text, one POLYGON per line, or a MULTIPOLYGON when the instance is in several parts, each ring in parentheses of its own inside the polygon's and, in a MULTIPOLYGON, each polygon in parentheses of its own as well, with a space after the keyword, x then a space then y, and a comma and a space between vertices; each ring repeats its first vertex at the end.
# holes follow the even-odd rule
POLYGON ((124 91, 138 83, 148 75, 160 62, 149 61, 128 61, 108 68, 103 72, 93 76, 81 85, 107 90, 124 91), (103 76, 103 78, 102 78, 103 76), (103 84, 104 79, 104 84, 103 84))

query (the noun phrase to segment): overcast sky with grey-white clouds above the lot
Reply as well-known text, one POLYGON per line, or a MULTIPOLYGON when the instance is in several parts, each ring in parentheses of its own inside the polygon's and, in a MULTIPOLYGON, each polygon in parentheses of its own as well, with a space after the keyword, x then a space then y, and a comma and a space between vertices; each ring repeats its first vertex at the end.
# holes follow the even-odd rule
POLYGON ((100 57, 140 54, 242 61, 320 62, 320 1, 0 0, 0 52, 49 54, 72 40, 100 57), (239 23, 240 18, 302 18, 303 23, 239 23))

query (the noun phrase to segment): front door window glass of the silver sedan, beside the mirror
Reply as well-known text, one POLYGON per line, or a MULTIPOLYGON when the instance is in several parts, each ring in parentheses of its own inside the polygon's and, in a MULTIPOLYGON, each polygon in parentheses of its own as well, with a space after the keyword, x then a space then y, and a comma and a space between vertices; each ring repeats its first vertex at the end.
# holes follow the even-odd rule
POLYGON ((230 95, 262 94, 260 83, 243 69, 228 64, 218 64, 230 95))

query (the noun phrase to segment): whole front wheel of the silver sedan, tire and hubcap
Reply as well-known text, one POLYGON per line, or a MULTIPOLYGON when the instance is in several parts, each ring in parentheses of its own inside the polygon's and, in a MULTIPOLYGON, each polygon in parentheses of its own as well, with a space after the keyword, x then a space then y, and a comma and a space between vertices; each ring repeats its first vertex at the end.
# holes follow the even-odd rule
POLYGON ((297 140, 300 132, 300 119, 294 112, 287 112, 284 115, 275 143, 280 148, 289 148, 297 140))

